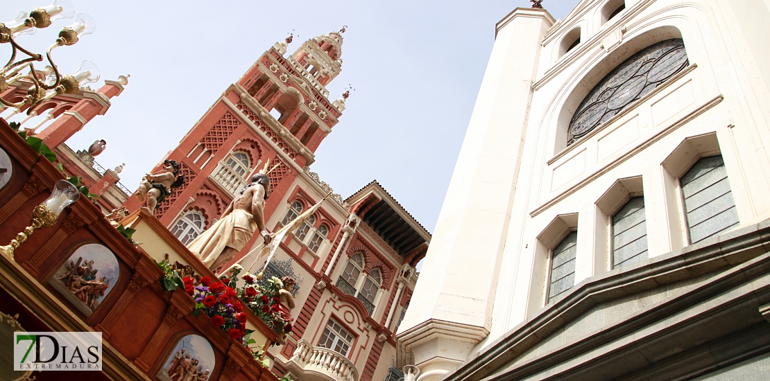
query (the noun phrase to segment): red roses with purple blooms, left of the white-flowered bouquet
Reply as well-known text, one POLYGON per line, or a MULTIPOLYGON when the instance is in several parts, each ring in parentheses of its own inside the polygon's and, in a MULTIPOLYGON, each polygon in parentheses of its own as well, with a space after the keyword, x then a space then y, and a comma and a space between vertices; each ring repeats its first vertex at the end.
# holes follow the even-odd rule
POLYGON ((193 286, 193 290, 197 290, 193 296, 196 301, 193 313, 198 316, 203 311, 211 318, 211 323, 223 329, 230 339, 243 343, 246 314, 243 313, 243 303, 238 298, 238 292, 233 288, 237 272, 231 270, 222 279, 214 280, 209 276, 201 278, 199 286, 193 286))

